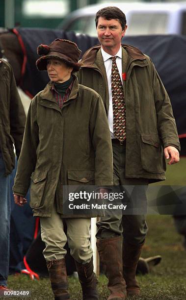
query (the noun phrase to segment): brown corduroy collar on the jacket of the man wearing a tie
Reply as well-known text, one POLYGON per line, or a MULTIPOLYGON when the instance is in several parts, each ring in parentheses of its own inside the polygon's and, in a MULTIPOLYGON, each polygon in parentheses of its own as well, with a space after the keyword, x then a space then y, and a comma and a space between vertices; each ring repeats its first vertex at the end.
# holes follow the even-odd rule
MULTIPOLYGON (((130 57, 129 62, 133 60, 145 60, 145 55, 136 47, 131 45, 122 44, 121 45, 127 52, 130 57)), ((87 50, 81 58, 81 68, 82 67, 97 67, 96 65, 96 54, 100 50, 101 45, 96 45, 89 50, 87 50)))

